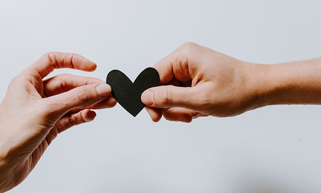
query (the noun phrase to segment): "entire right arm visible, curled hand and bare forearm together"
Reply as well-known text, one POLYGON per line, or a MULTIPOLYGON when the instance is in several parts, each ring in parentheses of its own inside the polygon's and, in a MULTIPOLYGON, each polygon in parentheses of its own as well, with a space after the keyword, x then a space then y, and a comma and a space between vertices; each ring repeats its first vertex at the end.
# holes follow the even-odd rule
POLYGON ((162 86, 142 94, 151 119, 191 122, 268 105, 321 104, 321 58, 262 65, 187 42, 154 65, 162 86))

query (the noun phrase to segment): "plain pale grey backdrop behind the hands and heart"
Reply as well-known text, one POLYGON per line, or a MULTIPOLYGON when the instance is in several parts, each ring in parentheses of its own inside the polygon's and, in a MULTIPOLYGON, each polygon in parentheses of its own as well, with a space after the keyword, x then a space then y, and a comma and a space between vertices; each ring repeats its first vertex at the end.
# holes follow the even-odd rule
MULTIPOLYGON (((320 1, 0 2, 0 98, 49 51, 74 52, 132 81, 186 41, 280 63, 321 56, 320 1)), ((120 105, 60 134, 15 192, 319 192, 320 106, 153 123, 120 105)), ((19 121, 19 120, 17 120, 19 121)), ((10 128, 8 128, 10 129, 10 128)))

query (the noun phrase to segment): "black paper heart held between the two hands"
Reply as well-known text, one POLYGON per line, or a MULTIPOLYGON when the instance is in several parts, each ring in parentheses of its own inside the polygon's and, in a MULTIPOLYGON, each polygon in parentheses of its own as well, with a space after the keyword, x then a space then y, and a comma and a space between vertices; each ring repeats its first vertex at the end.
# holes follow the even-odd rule
POLYGON ((146 106, 141 101, 142 93, 150 87, 159 85, 159 74, 156 69, 147 68, 132 83, 121 71, 112 70, 107 75, 106 83, 112 87, 112 95, 115 100, 132 116, 136 117, 146 106))

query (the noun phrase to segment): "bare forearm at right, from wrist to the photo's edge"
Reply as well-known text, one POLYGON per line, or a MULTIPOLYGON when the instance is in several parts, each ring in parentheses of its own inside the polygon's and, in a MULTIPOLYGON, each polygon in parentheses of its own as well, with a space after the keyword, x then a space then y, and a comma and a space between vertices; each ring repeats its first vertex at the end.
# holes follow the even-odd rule
POLYGON ((321 58, 260 68, 257 94, 261 106, 321 104, 321 58))

